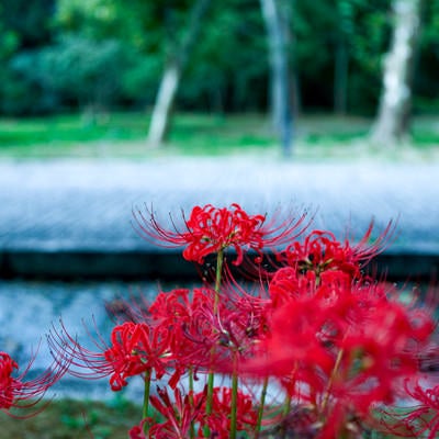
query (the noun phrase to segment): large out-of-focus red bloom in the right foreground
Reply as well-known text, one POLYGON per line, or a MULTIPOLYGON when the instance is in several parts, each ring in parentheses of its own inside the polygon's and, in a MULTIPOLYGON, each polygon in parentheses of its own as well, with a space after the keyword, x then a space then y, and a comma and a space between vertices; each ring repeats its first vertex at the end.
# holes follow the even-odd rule
POLYGON ((349 286, 338 273, 341 282, 295 291, 274 308, 258 361, 260 373, 277 375, 294 401, 325 418, 344 413, 342 420, 394 402, 402 379, 418 372, 434 323, 374 285, 349 286))

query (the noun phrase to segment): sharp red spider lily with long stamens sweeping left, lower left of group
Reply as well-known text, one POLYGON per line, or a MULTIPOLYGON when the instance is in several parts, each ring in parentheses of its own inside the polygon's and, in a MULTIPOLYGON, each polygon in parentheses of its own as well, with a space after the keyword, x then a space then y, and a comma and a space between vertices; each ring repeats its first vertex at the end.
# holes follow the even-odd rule
POLYGON ((55 359, 69 359, 69 372, 78 378, 100 379, 110 376, 113 391, 127 384, 126 379, 155 371, 160 379, 172 361, 171 333, 145 323, 125 322, 113 328, 111 345, 95 341, 99 351, 89 350, 77 342, 63 326, 48 337, 55 359), (86 369, 86 371, 83 371, 86 369))

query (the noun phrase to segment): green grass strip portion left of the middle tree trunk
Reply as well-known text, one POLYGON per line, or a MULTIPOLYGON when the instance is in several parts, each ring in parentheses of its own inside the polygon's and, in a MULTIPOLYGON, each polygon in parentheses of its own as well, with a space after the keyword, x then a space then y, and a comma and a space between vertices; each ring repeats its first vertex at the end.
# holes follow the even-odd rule
MULTIPOLYGON (((94 119, 63 115, 0 120, 0 157, 149 157, 149 119, 142 113, 111 113, 94 119)), ((266 147, 273 137, 262 116, 178 115, 165 154, 221 155, 234 148, 266 147)))

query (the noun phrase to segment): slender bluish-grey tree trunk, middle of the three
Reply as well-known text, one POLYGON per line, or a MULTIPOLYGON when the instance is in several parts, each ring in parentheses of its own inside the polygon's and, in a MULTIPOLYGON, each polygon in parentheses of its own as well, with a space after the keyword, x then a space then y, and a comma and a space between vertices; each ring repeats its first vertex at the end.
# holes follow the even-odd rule
POLYGON ((266 22, 271 70, 271 111, 274 130, 285 157, 291 155, 293 124, 290 102, 290 74, 288 64, 285 23, 277 0, 260 0, 266 22))

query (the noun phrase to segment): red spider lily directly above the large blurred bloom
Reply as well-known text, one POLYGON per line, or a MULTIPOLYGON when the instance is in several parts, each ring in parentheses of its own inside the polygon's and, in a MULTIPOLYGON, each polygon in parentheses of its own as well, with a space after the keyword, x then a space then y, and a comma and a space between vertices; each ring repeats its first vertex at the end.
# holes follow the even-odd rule
POLYGON ((372 229, 373 223, 354 246, 351 246, 348 239, 341 244, 330 232, 313 230, 303 243, 291 244, 285 251, 278 256, 278 259, 300 272, 314 271, 319 275, 327 270, 340 270, 352 279, 358 279, 364 263, 386 246, 392 232, 392 223, 373 244, 370 244, 372 229))

